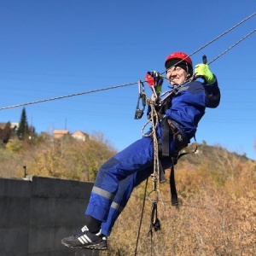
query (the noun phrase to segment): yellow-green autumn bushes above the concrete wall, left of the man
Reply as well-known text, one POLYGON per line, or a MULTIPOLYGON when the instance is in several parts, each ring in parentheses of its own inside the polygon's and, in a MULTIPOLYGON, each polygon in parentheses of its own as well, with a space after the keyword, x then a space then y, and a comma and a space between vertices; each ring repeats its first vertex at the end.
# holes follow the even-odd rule
POLYGON ((86 141, 71 135, 54 139, 47 133, 32 139, 9 140, 0 148, 1 177, 57 177, 93 182, 96 172, 115 153, 101 133, 86 141))

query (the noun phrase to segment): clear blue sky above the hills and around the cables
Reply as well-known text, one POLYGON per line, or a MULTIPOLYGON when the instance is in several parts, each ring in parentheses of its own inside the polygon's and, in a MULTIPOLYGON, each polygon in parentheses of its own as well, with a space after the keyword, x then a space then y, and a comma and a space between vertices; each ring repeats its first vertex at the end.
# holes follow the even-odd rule
MULTIPOLYGON (((164 72, 173 51, 192 54, 256 11, 252 1, 3 0, 0 3, 0 108, 144 80, 164 72)), ((255 29, 256 15, 191 56, 208 61, 255 29)), ((207 109, 197 141, 219 144, 255 160, 256 33, 214 61, 222 92, 207 109)), ((164 90, 167 83, 164 84, 164 90)), ((150 90, 146 88, 150 96, 150 90)), ((137 84, 27 105, 37 132, 100 131, 121 150, 142 136, 134 119, 137 84)), ((0 110, 19 122, 23 107, 0 110)))

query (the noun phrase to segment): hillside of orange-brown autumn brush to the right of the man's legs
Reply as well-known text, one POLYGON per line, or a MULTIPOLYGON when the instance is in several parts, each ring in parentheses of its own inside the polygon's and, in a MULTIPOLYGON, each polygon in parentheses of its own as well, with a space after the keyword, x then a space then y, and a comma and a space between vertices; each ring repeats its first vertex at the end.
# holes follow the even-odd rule
POLYGON ((109 237, 110 249, 101 255, 255 255, 255 161, 200 144, 197 154, 178 161, 175 173, 179 205, 171 205, 169 170, 160 194, 149 178, 144 209, 146 183, 133 191, 109 237), (161 229, 152 230, 150 236, 151 207, 157 195, 161 229))

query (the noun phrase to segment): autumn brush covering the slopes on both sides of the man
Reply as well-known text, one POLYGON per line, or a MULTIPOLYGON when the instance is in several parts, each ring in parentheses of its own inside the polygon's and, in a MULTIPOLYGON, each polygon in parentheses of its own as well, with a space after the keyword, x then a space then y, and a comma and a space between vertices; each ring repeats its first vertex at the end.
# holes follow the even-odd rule
MULTIPOLYGON (((195 144, 187 149, 193 148, 195 144)), ((255 161, 206 142, 198 148, 175 166, 179 205, 171 204, 170 170, 158 191, 149 177, 134 189, 108 237, 108 250, 100 255, 255 255, 255 161), (150 227, 156 199, 158 231, 150 227)), ((54 139, 47 133, 34 133, 30 139, 12 137, 0 148, 0 176, 94 181, 99 166, 115 153, 101 133, 85 142, 69 135, 54 139)))

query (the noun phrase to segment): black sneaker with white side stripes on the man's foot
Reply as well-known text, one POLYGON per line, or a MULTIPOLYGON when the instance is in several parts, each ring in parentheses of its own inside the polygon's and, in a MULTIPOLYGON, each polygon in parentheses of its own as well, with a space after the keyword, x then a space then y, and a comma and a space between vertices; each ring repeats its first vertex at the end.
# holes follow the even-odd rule
POLYGON ((102 235, 102 230, 98 233, 90 233, 87 226, 84 226, 77 234, 65 237, 61 243, 67 247, 88 248, 96 250, 106 250, 107 237, 102 235))

